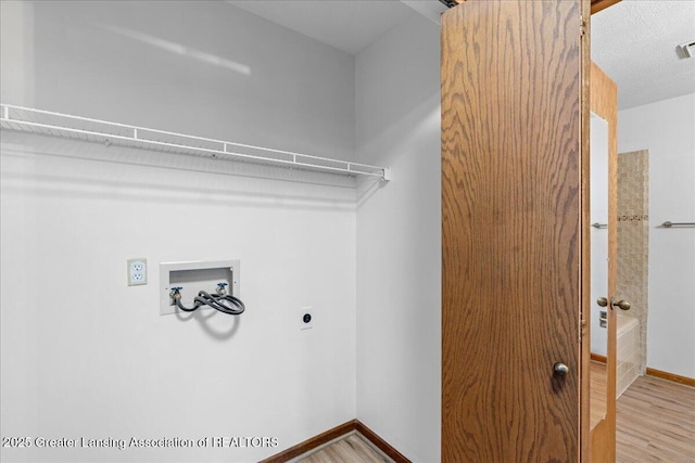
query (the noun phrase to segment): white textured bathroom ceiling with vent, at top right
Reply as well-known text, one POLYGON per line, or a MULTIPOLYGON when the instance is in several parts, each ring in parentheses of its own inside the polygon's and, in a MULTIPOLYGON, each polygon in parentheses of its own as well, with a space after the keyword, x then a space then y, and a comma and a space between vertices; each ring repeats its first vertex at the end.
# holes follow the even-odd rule
POLYGON ((592 60, 618 85, 618 107, 695 93, 694 0, 622 0, 591 17, 592 60))

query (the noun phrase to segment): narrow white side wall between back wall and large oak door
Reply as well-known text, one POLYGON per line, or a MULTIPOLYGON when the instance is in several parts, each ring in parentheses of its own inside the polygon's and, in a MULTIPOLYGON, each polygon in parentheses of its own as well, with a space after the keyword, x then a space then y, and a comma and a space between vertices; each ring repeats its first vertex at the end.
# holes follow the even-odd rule
POLYGON ((440 35, 418 14, 356 59, 357 156, 394 179, 357 210, 357 417, 440 460, 440 35))

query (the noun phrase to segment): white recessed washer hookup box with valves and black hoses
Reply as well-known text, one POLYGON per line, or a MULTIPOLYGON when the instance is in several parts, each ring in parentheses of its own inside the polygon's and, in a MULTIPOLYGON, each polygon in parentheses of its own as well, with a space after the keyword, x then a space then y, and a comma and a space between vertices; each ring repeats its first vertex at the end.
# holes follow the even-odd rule
MULTIPOLYGON (((227 283, 227 293, 240 297, 239 259, 160 263, 160 314, 167 316, 178 310, 172 298, 173 287, 181 287, 181 304, 192 307, 193 298, 200 291, 215 293, 218 283, 227 283)), ((203 309, 207 307, 201 307, 199 310, 203 309)))

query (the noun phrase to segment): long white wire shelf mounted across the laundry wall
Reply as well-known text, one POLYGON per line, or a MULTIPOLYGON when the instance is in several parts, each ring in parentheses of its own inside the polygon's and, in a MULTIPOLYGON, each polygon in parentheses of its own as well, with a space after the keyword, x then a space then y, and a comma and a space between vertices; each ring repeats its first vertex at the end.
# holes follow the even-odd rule
POLYGON ((377 167, 285 150, 109 123, 88 117, 0 103, 0 128, 71 140, 114 144, 172 154, 247 162, 348 176, 391 180, 388 167, 377 167), (243 153, 241 151, 244 151, 243 153))

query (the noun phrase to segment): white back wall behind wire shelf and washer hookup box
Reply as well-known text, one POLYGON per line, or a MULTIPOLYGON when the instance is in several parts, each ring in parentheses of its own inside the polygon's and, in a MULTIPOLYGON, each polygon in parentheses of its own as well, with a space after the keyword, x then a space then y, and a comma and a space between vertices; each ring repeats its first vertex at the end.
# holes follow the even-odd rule
MULTIPOLYGON (((4 103, 353 156, 346 53, 225 2, 1 4, 4 103)), ((349 182, 4 130, 1 147, 2 435, 279 443, 3 462, 257 461, 355 416, 349 182), (132 257, 147 286, 126 286, 132 257), (160 317, 159 262, 220 258, 241 259, 247 312, 160 317)))

